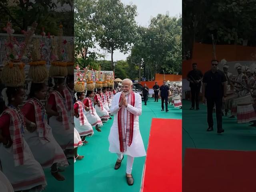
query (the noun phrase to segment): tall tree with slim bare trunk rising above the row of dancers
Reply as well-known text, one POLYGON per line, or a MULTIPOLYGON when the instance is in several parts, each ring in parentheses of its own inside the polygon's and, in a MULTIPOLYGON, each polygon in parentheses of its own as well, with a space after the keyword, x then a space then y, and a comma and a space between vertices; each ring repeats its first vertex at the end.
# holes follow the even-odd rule
POLYGON ((120 0, 98 0, 96 8, 94 20, 100 24, 96 38, 100 47, 111 53, 113 64, 114 50, 126 54, 134 42, 137 8, 124 5, 120 0))

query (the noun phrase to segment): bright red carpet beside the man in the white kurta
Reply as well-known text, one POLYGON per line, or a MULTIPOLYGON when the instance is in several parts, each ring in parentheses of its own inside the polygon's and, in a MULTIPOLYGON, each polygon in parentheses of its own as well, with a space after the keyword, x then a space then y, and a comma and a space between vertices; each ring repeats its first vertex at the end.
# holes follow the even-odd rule
POLYGON ((141 192, 182 192, 182 120, 152 119, 141 192))

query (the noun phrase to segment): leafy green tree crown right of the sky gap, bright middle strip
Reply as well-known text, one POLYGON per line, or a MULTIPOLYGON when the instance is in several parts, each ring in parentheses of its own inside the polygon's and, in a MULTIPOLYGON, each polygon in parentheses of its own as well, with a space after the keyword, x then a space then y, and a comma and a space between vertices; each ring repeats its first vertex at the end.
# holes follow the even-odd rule
POLYGON ((182 17, 158 14, 148 28, 138 27, 137 41, 127 58, 131 67, 144 67, 144 76, 181 73, 182 17), (149 70, 148 70, 149 68, 149 70), (148 74, 148 71, 150 74, 148 74))

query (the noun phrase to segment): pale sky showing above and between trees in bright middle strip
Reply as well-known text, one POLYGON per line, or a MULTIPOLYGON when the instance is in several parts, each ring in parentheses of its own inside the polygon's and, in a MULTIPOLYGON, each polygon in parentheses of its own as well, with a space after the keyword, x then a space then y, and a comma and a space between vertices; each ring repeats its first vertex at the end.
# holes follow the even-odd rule
MULTIPOLYGON (((179 16, 182 14, 182 0, 121 0, 123 4, 135 4, 137 6, 137 15, 135 20, 138 25, 147 27, 150 24, 150 18, 156 17, 157 14, 169 13, 170 16, 179 16)), ((96 46, 98 49, 99 46, 96 46)), ((100 49, 101 54, 105 50, 100 49)), ((126 60, 129 55, 124 55, 119 50, 115 50, 113 60, 126 60)), ((106 52, 105 60, 111 60, 111 54, 106 52)))

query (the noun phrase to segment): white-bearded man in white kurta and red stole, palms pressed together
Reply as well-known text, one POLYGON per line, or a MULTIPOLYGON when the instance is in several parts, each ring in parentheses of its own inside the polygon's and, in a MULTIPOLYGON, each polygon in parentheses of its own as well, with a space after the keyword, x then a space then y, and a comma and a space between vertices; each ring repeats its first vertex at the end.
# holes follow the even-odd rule
POLYGON ((146 156, 146 151, 139 129, 142 100, 138 93, 132 91, 130 79, 122 81, 122 92, 118 92, 114 96, 110 112, 116 114, 108 136, 109 151, 118 156, 114 168, 120 168, 124 155, 127 155, 126 180, 128 185, 133 185, 132 164, 134 157, 146 156))

